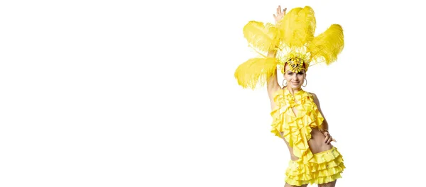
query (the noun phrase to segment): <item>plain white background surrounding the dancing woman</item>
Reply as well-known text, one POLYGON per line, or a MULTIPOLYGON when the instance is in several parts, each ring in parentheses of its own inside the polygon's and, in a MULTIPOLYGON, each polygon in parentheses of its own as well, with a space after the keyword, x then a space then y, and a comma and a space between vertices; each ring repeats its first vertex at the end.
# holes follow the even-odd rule
POLYGON ((337 186, 422 186, 419 4, 1 1, 0 186, 283 186, 266 89, 234 79, 242 28, 278 5, 314 8, 316 35, 344 28, 305 88, 344 154, 337 186))

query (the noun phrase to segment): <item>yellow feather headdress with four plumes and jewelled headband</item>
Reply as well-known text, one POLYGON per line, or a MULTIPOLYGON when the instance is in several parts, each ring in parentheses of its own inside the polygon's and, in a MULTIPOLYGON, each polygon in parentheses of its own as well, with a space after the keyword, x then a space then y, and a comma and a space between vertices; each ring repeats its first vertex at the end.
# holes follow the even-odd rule
POLYGON ((293 8, 277 24, 249 21, 243 28, 244 38, 260 57, 247 60, 236 68, 234 77, 243 88, 262 86, 275 74, 277 66, 284 73, 285 63, 292 72, 300 72, 313 64, 332 64, 344 47, 342 26, 332 24, 314 36, 315 13, 310 6, 293 8), (268 51, 275 50, 275 57, 268 51))

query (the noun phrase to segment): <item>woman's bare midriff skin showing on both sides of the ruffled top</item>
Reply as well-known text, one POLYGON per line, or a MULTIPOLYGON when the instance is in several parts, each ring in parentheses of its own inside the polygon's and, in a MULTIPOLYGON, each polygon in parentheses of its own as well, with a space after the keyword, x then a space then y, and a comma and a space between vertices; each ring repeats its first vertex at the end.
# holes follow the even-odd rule
MULTIPOLYGON (((283 132, 280 132, 281 137, 283 137, 283 132)), ((294 154, 293 154, 293 148, 290 147, 290 145, 288 144, 287 141, 285 141, 285 139, 283 138, 285 144, 288 147, 288 151, 290 152, 290 158, 292 160, 297 160, 299 158, 297 158, 294 154)), ((307 141, 307 144, 309 145, 309 148, 312 152, 312 154, 316 154, 319 152, 324 152, 327 151, 329 149, 332 149, 332 144, 330 143, 329 145, 327 145, 325 142, 325 136, 322 134, 322 132, 320 132, 320 130, 318 130, 318 128, 312 128, 311 131, 311 139, 307 141)))

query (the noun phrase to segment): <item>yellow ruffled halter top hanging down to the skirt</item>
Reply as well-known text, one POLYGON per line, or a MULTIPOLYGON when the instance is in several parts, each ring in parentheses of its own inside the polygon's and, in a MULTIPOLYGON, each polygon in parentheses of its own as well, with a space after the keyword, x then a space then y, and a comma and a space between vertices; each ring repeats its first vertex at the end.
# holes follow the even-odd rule
POLYGON ((309 162, 313 157, 307 141, 310 140, 311 128, 322 129, 322 117, 312 94, 300 89, 294 95, 288 89, 280 89, 275 92, 273 100, 275 108, 271 111, 273 122, 271 132, 284 139, 293 147, 293 154, 299 157, 299 161, 309 162), (297 110, 297 115, 291 108, 297 110))

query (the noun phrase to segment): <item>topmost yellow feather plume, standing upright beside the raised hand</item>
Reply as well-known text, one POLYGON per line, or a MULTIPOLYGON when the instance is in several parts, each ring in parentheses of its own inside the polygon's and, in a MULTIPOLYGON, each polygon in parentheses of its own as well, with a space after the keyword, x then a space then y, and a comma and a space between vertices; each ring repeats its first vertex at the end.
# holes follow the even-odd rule
POLYGON ((310 6, 293 8, 279 23, 281 38, 290 48, 302 47, 314 38, 315 13, 310 6))

